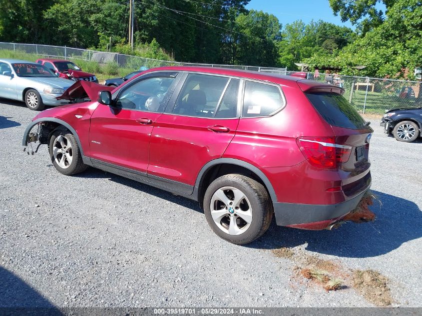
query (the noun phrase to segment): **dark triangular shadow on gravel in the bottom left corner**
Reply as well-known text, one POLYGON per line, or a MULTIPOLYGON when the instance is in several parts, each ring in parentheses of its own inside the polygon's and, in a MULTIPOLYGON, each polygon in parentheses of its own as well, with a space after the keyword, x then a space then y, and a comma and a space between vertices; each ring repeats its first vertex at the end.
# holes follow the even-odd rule
POLYGON ((2 267, 0 280, 0 315, 62 315, 40 293, 2 267))

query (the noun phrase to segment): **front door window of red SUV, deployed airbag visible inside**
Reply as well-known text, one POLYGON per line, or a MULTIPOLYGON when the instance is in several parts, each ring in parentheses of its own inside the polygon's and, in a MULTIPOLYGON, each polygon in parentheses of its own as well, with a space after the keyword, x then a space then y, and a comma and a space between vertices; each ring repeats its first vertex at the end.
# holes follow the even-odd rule
POLYGON ((162 101, 174 78, 152 77, 131 84, 116 100, 117 107, 139 111, 162 112, 162 101))

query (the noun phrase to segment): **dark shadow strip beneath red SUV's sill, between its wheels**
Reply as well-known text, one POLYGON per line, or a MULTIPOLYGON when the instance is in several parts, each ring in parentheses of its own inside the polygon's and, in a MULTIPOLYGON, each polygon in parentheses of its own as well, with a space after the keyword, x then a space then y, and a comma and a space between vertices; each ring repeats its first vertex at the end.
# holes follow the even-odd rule
MULTIPOLYGON (((81 177, 81 178, 88 178, 88 179, 96 179, 96 178, 103 178, 108 179, 110 181, 116 182, 118 184, 122 184, 131 188, 134 188, 136 190, 151 194, 155 197, 158 197, 160 199, 167 200, 169 202, 176 203, 180 206, 192 209, 194 211, 197 211, 199 213, 204 213, 203 210, 199 207, 199 203, 193 200, 190 200, 188 198, 184 198, 179 195, 171 194, 167 191, 154 188, 150 185, 143 184, 140 182, 137 182, 135 180, 131 180, 128 178, 124 178, 109 172, 105 172, 99 169, 89 168, 86 172, 83 172, 81 174, 77 174, 74 177, 81 177)), ((204 217, 205 220, 205 217, 204 217)))

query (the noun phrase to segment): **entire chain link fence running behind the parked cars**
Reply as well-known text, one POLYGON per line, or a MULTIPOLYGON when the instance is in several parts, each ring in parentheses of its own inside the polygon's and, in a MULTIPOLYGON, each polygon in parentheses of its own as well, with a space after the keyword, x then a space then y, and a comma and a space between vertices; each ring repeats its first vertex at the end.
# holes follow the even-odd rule
MULTIPOLYGON (((99 64, 111 63, 119 68, 131 69, 130 71, 139 69, 140 67, 154 68, 163 66, 207 66, 262 71, 280 75, 292 75, 293 73, 298 73, 298 71, 287 71, 286 68, 166 61, 66 46, 0 42, 0 49, 23 52, 44 57, 95 61, 99 64)), ((301 74, 307 79, 334 84, 344 88, 344 96, 361 113, 383 114, 386 110, 393 107, 422 106, 421 81, 352 77, 338 74, 312 72, 301 72, 301 74)))

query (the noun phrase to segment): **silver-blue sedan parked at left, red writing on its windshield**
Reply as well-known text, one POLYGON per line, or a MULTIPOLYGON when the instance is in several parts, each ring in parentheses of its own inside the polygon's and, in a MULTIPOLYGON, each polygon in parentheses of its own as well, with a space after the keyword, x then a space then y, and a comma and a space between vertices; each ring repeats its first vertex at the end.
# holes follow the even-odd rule
POLYGON ((40 111, 44 105, 68 104, 69 101, 56 97, 73 83, 32 61, 0 59, 0 97, 24 101, 31 110, 40 111))

